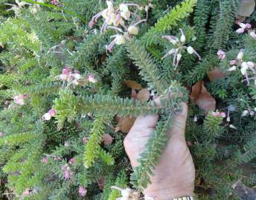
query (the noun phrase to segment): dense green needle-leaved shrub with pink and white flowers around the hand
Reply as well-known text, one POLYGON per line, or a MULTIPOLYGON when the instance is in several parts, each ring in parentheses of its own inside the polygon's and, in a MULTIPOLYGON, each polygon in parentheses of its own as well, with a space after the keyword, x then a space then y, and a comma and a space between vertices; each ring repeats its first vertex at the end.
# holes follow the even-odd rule
POLYGON ((186 101, 197 198, 239 199, 234 183, 256 183, 256 13, 236 24, 240 6, 0 0, 1 198, 114 200, 112 186, 143 190, 186 101), (130 87, 148 88, 151 100, 132 99, 130 87), (132 169, 116 119, 155 113, 132 169))

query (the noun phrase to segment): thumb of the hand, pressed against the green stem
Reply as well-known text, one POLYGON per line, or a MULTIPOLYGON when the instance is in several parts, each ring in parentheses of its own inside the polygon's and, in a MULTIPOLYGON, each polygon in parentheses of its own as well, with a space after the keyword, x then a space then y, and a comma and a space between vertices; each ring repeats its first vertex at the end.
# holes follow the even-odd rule
POLYGON ((181 112, 177 113, 176 116, 173 118, 173 124, 170 130, 167 131, 168 136, 173 135, 185 135, 185 127, 186 127, 186 121, 188 116, 188 105, 185 104, 185 102, 182 102, 179 104, 181 107, 181 112))

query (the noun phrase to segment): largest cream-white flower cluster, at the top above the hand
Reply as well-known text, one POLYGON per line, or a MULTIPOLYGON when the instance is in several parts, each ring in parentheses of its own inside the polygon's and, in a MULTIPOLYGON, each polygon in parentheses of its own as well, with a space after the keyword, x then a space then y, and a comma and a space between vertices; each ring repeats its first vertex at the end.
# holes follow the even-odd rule
POLYGON ((132 39, 132 36, 138 35, 138 24, 147 21, 147 19, 141 19, 136 13, 132 12, 129 7, 137 7, 138 10, 146 10, 148 13, 149 7, 153 7, 153 4, 149 4, 146 7, 141 7, 139 4, 119 4, 119 7, 114 7, 112 1, 106 1, 107 8, 97 15, 92 17, 89 22, 89 28, 97 23, 100 17, 103 17, 104 22, 100 28, 100 33, 105 32, 107 29, 115 30, 115 35, 110 38, 112 42, 106 46, 106 50, 112 52, 115 44, 121 45, 132 39), (131 17, 134 17, 135 21, 130 22, 131 17), (128 23, 129 22, 129 23, 128 23))

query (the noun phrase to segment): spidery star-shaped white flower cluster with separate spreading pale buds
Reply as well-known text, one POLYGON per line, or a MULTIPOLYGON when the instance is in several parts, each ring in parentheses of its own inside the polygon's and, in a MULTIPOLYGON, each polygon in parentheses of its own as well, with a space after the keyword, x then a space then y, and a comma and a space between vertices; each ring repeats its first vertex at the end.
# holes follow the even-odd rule
POLYGON ((165 54, 164 57, 162 58, 162 59, 165 59, 167 56, 173 55, 173 65, 175 66, 175 69, 176 67, 178 67, 179 61, 182 59, 182 51, 184 49, 186 49, 189 54, 195 54, 198 57, 198 59, 201 60, 201 56, 199 56, 199 54, 196 52, 196 50, 193 49, 193 47, 185 46, 185 41, 186 41, 185 34, 183 33, 182 29, 179 29, 179 30, 182 33, 182 36, 180 37, 180 39, 178 39, 175 36, 162 36, 162 38, 167 39, 173 45, 176 46, 176 48, 169 50, 168 53, 165 54))

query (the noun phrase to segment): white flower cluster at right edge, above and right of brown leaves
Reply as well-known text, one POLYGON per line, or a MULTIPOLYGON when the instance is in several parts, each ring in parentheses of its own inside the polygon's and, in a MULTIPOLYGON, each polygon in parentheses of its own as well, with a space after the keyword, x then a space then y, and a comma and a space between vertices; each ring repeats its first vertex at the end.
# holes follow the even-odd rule
POLYGON ((240 72, 246 78, 243 81, 247 82, 247 85, 250 84, 249 80, 255 80, 256 85, 256 64, 252 61, 243 61, 243 50, 240 50, 240 53, 237 55, 237 59, 233 59, 229 62, 232 67, 228 68, 228 72, 237 70, 237 67, 240 67, 240 72), (249 76, 252 76, 249 78, 249 76))

